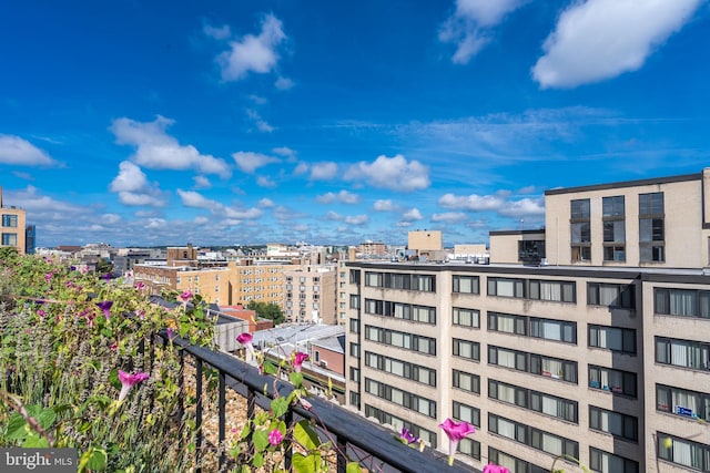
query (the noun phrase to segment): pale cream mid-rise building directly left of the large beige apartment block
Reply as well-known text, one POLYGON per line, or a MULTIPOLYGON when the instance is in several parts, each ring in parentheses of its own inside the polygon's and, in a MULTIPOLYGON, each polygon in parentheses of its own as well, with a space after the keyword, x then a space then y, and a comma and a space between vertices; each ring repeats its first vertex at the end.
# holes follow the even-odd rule
POLYGON ((334 266, 303 265, 284 270, 282 307, 290 322, 336 323, 334 266))

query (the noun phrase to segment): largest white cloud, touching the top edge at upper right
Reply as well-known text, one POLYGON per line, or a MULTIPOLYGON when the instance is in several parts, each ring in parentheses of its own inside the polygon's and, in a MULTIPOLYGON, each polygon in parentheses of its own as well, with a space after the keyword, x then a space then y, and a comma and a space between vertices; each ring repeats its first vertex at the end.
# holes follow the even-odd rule
POLYGON ((574 88, 640 69, 703 0, 588 0, 565 10, 532 68, 541 88, 574 88))

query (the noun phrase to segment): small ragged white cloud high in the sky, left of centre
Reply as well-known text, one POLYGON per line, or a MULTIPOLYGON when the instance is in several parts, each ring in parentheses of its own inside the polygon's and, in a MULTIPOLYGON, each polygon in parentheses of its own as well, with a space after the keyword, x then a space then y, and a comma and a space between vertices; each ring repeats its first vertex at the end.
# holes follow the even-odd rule
POLYGON ((222 80, 239 81, 250 72, 271 72, 278 62, 276 48, 285 38, 281 20, 273 14, 266 16, 257 37, 246 34, 241 41, 231 41, 230 50, 217 56, 216 61, 222 66, 222 80))

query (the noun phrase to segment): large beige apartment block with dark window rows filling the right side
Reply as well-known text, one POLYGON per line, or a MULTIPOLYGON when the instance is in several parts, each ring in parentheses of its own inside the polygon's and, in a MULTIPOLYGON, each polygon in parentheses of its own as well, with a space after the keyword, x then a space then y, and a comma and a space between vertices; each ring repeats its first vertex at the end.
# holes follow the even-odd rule
POLYGON ((547 265, 511 234, 490 265, 349 261, 347 401, 444 451, 477 425, 478 469, 710 471, 709 175, 546 193, 517 238, 547 265))

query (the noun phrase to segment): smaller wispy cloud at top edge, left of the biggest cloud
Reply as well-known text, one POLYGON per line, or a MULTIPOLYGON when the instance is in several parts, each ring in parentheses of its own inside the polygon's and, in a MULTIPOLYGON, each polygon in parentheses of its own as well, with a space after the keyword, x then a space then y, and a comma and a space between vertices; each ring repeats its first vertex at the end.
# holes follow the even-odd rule
POLYGON ((439 41, 456 43, 452 61, 466 64, 488 41, 491 30, 506 14, 528 0, 457 0, 456 11, 442 25, 439 41))

